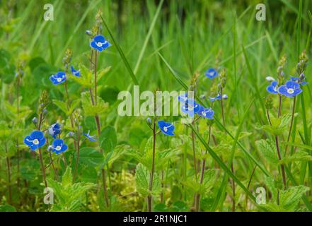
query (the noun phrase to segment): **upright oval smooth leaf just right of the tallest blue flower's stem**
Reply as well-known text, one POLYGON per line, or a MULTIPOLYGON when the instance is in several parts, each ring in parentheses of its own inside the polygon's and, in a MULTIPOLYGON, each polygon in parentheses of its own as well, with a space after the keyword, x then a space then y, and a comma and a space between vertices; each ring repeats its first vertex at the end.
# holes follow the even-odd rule
POLYGON ((117 145, 117 134, 115 128, 107 126, 100 132, 100 147, 105 153, 110 153, 117 145))

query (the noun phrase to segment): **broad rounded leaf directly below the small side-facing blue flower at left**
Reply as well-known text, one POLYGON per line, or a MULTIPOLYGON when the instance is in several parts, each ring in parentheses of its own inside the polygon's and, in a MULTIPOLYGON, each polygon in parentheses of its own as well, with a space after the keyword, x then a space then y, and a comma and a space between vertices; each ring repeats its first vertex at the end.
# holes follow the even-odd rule
POLYGON ((98 150, 85 147, 80 149, 79 161, 90 167, 98 167, 103 163, 104 159, 98 150))

